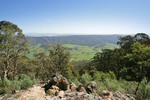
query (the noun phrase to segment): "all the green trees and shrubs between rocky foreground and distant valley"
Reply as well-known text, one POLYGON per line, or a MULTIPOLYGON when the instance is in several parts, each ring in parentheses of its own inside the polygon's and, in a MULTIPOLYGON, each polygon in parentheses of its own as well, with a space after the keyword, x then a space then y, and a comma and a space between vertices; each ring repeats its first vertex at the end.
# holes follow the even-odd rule
POLYGON ((1 21, 0 94, 27 89, 36 80, 47 81, 54 73, 60 73, 75 84, 97 82, 97 92, 121 91, 134 95, 137 100, 150 99, 149 36, 138 33, 120 37, 118 45, 120 48, 97 52, 91 60, 72 62, 66 47, 49 45, 35 52, 31 59, 26 56, 30 50, 22 30, 13 23, 1 21))

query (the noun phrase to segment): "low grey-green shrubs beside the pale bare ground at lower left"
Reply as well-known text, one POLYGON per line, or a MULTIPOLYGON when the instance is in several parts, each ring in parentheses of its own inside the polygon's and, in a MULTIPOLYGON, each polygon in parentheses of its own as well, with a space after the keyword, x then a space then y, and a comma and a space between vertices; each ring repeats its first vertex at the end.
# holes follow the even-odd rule
POLYGON ((27 89, 36 84, 35 79, 31 79, 29 76, 25 74, 21 74, 20 76, 16 76, 14 80, 8 80, 5 77, 0 81, 0 94, 10 94, 14 93, 16 90, 27 89))

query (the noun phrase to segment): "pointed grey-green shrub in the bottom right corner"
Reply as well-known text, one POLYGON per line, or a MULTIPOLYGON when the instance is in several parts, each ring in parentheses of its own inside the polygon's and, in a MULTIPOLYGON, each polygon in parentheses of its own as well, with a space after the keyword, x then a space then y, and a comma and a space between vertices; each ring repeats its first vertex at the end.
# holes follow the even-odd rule
POLYGON ((150 99, 150 82, 144 77, 141 81, 138 91, 137 91, 137 100, 149 100, 150 99))

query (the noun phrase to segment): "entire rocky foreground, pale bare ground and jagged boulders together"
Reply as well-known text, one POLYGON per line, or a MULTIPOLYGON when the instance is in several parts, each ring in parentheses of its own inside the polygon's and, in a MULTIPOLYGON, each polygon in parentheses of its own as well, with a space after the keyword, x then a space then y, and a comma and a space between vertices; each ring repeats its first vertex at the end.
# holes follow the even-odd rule
POLYGON ((74 83, 69 84, 67 79, 62 75, 54 75, 52 79, 41 88, 33 86, 28 90, 18 91, 13 96, 2 95, 2 100, 135 100, 129 94, 123 94, 119 91, 111 92, 103 90, 97 93, 98 86, 96 82, 90 82, 86 86, 74 83), (64 87, 63 87, 64 86, 64 87), (18 97, 16 99, 16 97, 18 97))

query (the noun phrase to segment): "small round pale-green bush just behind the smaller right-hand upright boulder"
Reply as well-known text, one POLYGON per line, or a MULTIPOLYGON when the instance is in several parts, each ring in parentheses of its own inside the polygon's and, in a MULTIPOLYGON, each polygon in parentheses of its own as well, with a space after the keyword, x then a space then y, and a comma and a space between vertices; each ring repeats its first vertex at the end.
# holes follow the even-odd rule
POLYGON ((85 73, 85 74, 82 74, 79 80, 82 84, 86 85, 92 80, 92 77, 88 73, 85 73))

